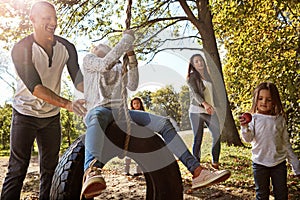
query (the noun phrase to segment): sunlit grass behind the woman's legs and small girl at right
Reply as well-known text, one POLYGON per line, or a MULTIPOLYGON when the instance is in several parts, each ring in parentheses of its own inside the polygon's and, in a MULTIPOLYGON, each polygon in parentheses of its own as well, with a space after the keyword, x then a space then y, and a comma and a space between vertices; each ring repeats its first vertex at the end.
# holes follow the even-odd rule
MULTIPOLYGON (((191 150, 193 144, 192 134, 182 134, 182 139, 187 147, 191 150)), ((201 148, 201 165, 211 167, 211 134, 205 132, 201 148)), ((179 162, 181 171, 186 168, 179 162)), ((221 144, 220 168, 231 171, 231 177, 222 185, 228 188, 242 189, 255 195, 255 186, 252 173, 251 148, 247 144, 246 147, 228 146, 221 144)), ((187 172, 188 173, 188 172, 187 172)), ((299 178, 293 177, 291 166, 288 165, 288 188, 289 199, 300 199, 300 181, 299 178)))

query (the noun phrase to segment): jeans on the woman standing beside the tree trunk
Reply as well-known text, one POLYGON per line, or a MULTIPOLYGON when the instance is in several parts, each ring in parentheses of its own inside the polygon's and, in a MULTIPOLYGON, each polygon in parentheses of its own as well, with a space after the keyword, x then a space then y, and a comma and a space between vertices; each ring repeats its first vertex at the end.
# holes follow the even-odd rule
POLYGON ((208 127, 212 135, 212 162, 218 163, 221 151, 220 125, 216 114, 190 113, 190 121, 194 133, 193 155, 200 162, 201 145, 203 139, 204 124, 208 127))

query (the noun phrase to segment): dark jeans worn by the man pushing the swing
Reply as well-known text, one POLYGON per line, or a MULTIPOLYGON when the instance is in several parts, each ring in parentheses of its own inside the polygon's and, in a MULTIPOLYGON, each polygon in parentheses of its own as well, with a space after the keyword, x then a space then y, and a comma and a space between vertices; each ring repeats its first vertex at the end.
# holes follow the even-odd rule
POLYGON ((1 200, 20 199, 32 145, 38 144, 40 161, 39 199, 49 199, 52 177, 59 159, 61 142, 60 115, 49 118, 26 116, 13 110, 10 132, 10 158, 1 200))

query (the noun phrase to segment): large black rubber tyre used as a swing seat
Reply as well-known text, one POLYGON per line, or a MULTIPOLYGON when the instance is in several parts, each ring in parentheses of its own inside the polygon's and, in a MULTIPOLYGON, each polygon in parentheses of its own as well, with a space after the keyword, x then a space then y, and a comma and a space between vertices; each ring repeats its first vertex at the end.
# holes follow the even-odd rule
MULTIPOLYGON (((144 171, 147 185, 146 199, 183 199, 183 186, 179 167, 173 154, 167 148, 164 148, 164 141, 145 128, 132 124, 131 129, 132 132, 139 133, 143 137, 131 136, 127 155, 134 159, 144 171), (157 150, 159 150, 159 154, 155 154, 156 160, 153 160, 153 157, 136 156, 136 153, 149 153, 157 150), (164 160, 170 160, 169 164, 151 170, 153 166, 150 163, 161 163, 164 160)), ((104 147, 106 161, 108 162, 116 156, 122 157, 126 133, 113 123, 108 127, 106 136, 107 141, 105 141, 106 146, 104 147), (110 145, 112 143, 113 145, 110 145)), ((51 199, 76 200, 80 198, 84 163, 82 137, 79 137, 66 150, 56 167, 50 191, 51 199)))

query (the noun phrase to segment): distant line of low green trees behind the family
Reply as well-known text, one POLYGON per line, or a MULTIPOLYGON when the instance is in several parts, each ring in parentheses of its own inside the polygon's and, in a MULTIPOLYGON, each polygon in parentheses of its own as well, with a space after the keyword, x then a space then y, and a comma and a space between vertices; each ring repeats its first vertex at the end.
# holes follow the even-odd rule
MULTIPOLYGON (((71 95, 70 88, 64 90, 65 97, 70 97, 71 95)), ((182 86, 179 92, 176 92, 171 85, 167 85, 156 91, 139 91, 133 96, 142 98, 147 112, 174 119, 174 122, 176 123, 175 126, 178 126, 180 131, 191 129, 188 114, 190 97, 187 85, 182 86)), ((12 114, 11 105, 5 104, 3 107, 0 107, 0 114, 0 150, 3 155, 8 154, 9 150, 9 134, 12 114)), ((237 117, 238 116, 236 116, 236 119, 237 117)), ((236 123, 238 123, 238 120, 236 123)), ((85 125, 82 117, 78 117, 65 109, 61 110, 61 124, 61 152, 63 153, 76 138, 85 133, 85 125)), ((292 136, 291 139, 291 142, 296 146, 295 141, 297 140, 297 137, 292 136)), ((296 148, 296 150, 299 149, 296 148)))

